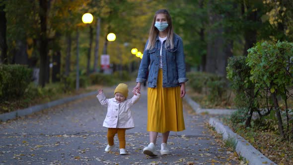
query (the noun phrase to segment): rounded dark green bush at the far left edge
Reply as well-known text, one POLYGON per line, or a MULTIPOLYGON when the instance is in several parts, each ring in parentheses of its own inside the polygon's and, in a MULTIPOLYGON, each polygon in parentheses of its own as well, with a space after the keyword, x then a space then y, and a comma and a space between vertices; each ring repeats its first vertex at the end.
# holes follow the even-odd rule
POLYGON ((32 81, 32 70, 23 65, 0 65, 0 100, 20 98, 32 81))

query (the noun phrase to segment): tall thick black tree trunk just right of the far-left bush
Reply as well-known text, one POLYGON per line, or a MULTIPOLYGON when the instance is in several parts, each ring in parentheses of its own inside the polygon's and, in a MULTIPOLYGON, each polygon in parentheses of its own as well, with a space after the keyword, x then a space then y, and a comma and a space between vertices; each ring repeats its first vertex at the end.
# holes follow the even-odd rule
POLYGON ((44 87, 46 83, 46 78, 48 75, 48 39, 47 39, 47 10, 48 10, 48 1, 39 0, 40 4, 40 79, 39 85, 44 87))

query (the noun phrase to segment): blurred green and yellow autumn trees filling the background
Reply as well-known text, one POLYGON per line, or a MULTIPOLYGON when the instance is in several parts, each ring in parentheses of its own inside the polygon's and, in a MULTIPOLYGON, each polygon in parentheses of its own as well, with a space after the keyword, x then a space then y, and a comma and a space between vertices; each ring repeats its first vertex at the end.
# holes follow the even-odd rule
POLYGON ((246 56, 257 41, 292 40, 292 7, 290 0, 1 0, 1 63, 40 68, 41 86, 60 81, 74 72, 78 29, 82 72, 100 71, 101 54, 114 72, 132 72, 140 59, 130 50, 143 52, 154 11, 167 8, 190 69, 225 77, 227 59, 246 56), (85 12, 94 16, 89 25, 85 12))

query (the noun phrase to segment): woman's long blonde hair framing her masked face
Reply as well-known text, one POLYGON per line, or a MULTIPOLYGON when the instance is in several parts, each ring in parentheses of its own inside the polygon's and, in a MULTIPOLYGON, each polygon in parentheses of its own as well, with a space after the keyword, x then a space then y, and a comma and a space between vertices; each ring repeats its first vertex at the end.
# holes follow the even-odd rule
POLYGON ((168 23, 167 31, 168 31, 168 33, 167 33, 165 47, 170 46, 170 48, 173 49, 174 48, 174 43, 173 43, 174 30, 173 30, 171 16, 166 9, 159 9, 155 12, 153 20, 152 20, 152 24, 150 26, 150 30, 149 30, 148 43, 147 43, 146 49, 150 50, 150 49, 154 48, 156 37, 159 34, 159 30, 154 27, 155 19, 158 14, 165 14, 165 16, 167 17, 167 23, 168 23))

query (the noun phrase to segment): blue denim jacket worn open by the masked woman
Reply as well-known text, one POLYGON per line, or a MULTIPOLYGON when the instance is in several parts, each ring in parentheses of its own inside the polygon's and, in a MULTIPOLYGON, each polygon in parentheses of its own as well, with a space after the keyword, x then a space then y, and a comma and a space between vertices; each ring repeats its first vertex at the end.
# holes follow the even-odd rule
MULTIPOLYGON (((166 40, 163 42, 162 46, 163 87, 179 86, 180 83, 185 83, 188 81, 188 79, 186 78, 183 42, 182 39, 176 34, 174 34, 173 49, 171 49, 170 47, 165 48, 165 42, 166 40)), ((151 50, 146 50, 147 43, 136 82, 144 83, 145 81, 147 81, 148 87, 156 87, 159 71, 161 42, 157 36, 154 48, 151 50)))

